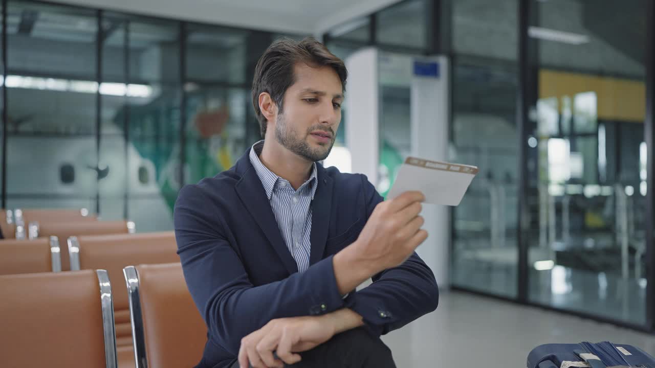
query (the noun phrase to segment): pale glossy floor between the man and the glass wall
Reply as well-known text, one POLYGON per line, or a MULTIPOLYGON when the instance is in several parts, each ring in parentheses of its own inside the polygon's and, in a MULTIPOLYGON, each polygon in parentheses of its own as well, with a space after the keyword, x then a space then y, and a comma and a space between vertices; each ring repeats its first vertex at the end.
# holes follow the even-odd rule
POLYGON ((383 340, 398 368, 523 368, 530 350, 552 342, 610 340, 655 356, 655 335, 455 291, 383 340))

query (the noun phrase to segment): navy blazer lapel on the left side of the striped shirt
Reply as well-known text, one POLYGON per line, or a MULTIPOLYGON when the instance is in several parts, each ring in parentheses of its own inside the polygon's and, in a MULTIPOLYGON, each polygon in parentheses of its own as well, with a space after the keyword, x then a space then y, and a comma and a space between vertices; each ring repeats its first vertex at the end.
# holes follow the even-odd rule
POLYGON ((290 274, 298 272, 298 266, 284 243, 278 228, 278 223, 275 220, 269 198, 266 196, 264 187, 261 184, 261 179, 259 179, 255 168, 250 164, 248 155, 244 156, 240 161, 240 168, 244 169, 244 172, 242 172, 242 177, 236 184, 236 194, 238 194, 259 228, 271 242, 282 263, 284 263, 284 267, 290 274), (248 160, 248 162, 244 162, 244 160, 248 160))

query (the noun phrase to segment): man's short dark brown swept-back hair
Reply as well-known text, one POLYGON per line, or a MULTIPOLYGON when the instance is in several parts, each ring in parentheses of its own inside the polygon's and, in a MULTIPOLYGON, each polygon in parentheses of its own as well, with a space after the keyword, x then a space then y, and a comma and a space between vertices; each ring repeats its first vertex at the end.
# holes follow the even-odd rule
POLYGON ((302 41, 295 41, 287 37, 276 40, 259 58, 252 81, 252 104, 255 107, 257 120, 259 120, 262 138, 266 134, 267 120, 259 109, 259 95, 262 92, 268 92, 279 111, 282 112, 284 93, 295 83, 293 67, 299 62, 312 67, 332 67, 341 79, 342 90, 346 90, 348 71, 346 71, 343 60, 334 56, 314 37, 305 37, 302 41))

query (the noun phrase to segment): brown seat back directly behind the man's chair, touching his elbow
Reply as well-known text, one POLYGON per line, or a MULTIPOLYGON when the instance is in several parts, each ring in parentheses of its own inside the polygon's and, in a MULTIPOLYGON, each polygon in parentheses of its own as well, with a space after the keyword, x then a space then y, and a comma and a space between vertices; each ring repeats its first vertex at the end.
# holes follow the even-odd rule
MULTIPOLYGON (((107 270, 109 279, 123 280, 122 270, 141 263, 179 262, 175 233, 72 236, 68 239, 71 270, 107 270)), ((134 367, 134 348, 128 293, 114 287, 114 316, 119 367, 134 367)))

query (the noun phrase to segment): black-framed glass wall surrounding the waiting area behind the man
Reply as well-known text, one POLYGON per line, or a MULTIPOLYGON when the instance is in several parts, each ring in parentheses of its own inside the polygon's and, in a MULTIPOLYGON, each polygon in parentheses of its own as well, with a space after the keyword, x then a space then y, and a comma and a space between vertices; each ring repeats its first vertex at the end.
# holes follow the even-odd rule
MULTIPOLYGON (((480 169, 452 212, 453 285, 519 298, 527 246, 521 301, 644 325, 648 1, 525 0, 519 65, 520 1, 404 0, 324 38, 341 58, 365 46, 449 56, 449 160, 480 169), (525 137, 518 97, 530 105, 525 137)), ((5 3, 7 208, 88 208, 139 231, 172 229, 181 186, 229 168, 260 138, 252 73, 282 34, 5 3)), ((383 83, 381 99, 381 163, 394 165, 407 154, 408 90, 383 83)))

